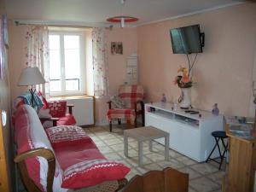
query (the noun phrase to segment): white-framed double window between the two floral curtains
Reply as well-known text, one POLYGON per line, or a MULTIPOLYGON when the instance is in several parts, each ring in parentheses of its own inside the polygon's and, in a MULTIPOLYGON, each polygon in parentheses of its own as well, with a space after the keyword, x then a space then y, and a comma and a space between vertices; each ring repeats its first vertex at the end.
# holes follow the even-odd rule
POLYGON ((50 96, 85 94, 85 40, 84 32, 49 32, 50 96))

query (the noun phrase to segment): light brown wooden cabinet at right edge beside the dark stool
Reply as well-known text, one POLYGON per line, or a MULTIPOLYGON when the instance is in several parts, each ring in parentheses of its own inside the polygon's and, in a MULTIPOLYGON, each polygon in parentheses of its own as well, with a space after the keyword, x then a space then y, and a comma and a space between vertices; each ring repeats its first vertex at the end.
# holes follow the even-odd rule
POLYGON ((226 132, 230 137, 230 158, 226 172, 225 192, 253 192, 254 173, 256 170, 255 137, 244 139, 226 132))

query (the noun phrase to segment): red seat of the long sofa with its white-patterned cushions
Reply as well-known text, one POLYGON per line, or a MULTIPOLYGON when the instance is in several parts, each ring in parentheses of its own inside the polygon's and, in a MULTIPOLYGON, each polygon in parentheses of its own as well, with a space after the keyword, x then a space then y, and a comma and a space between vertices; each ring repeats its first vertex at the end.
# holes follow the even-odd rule
POLYGON ((49 136, 51 140, 58 141, 57 144, 52 144, 55 149, 55 157, 64 172, 62 188, 89 187, 104 181, 124 178, 130 172, 130 168, 127 166, 113 160, 106 160, 92 139, 82 131, 77 126, 49 128, 48 135, 51 135, 49 136), (67 136, 65 130, 73 136, 67 136), (57 136, 53 136, 54 134, 57 136), (67 137, 71 138, 70 142, 67 142, 67 137), (72 158, 70 158, 71 156, 72 158))

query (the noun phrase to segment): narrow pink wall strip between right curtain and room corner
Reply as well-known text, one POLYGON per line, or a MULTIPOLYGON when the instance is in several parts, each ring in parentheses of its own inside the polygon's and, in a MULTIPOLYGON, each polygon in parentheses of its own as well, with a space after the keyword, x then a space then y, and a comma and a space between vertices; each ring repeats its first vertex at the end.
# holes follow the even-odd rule
MULTIPOLYGON (((106 31, 108 44, 109 95, 118 93, 119 85, 125 81, 126 58, 137 51, 137 28, 113 28, 106 31), (111 42, 123 43, 123 55, 111 55, 111 42)), ((96 122, 106 123, 109 98, 96 99, 96 122)))

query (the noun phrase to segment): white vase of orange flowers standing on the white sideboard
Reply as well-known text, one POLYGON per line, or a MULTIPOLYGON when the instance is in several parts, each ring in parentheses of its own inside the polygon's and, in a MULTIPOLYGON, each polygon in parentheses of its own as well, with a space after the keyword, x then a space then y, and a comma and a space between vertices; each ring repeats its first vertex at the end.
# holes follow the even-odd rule
POLYGON ((186 67, 180 67, 177 70, 177 73, 182 73, 181 75, 177 75, 174 80, 174 84, 181 89, 181 96, 178 99, 180 102, 181 108, 190 108, 191 106, 191 87, 192 87, 192 79, 189 77, 189 73, 186 67))

